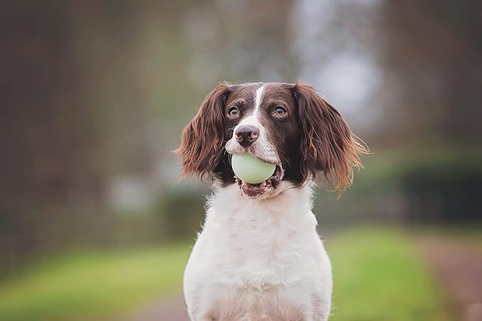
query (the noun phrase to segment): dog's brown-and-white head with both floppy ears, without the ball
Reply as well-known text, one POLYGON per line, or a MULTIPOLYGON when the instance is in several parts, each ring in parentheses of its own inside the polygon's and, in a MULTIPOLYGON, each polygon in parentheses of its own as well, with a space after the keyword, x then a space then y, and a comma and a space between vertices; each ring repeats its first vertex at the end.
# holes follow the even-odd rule
POLYGON ((249 198, 267 198, 281 181, 301 185, 318 174, 344 191, 366 147, 311 86, 248 83, 217 86, 184 129, 176 152, 182 177, 210 176, 223 186, 238 184, 249 198), (230 159, 242 152, 275 164, 274 174, 261 184, 237 178, 230 159))

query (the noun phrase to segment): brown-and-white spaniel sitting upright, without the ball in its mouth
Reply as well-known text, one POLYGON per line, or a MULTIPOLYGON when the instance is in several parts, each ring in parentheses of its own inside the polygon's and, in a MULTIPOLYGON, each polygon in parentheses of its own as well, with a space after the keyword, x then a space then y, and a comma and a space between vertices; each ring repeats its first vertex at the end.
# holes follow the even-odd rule
POLYGON ((312 188, 350 186, 367 152, 312 86, 222 83, 175 150, 181 179, 213 182, 184 274, 192 321, 319 321, 331 307, 332 268, 317 234, 312 188), (236 177, 231 154, 275 164, 261 184, 236 177), (320 180, 320 178, 323 178, 320 180))

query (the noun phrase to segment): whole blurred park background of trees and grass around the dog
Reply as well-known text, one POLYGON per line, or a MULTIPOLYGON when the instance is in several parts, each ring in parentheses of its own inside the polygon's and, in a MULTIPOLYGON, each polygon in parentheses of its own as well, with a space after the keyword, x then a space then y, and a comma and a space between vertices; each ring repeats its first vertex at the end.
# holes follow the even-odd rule
POLYGON ((372 154, 314 213, 330 320, 482 320, 482 2, 1 1, 0 320, 187 320, 219 81, 302 80, 372 154))

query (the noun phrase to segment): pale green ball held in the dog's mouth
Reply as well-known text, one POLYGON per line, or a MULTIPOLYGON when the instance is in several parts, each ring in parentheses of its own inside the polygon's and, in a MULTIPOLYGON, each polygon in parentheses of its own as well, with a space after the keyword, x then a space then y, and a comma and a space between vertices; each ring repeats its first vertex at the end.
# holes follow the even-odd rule
POLYGON ((259 184, 269 179, 276 166, 262 162, 251 154, 233 154, 231 166, 234 174, 249 184, 259 184))

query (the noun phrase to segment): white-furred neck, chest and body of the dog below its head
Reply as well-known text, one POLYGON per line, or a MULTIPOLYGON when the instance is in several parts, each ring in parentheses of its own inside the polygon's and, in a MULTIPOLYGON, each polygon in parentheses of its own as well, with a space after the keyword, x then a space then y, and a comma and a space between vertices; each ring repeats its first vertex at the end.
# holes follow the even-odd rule
POLYGON ((282 181, 270 198, 215 188, 184 276, 192 321, 324 321, 332 271, 312 191, 282 181))

